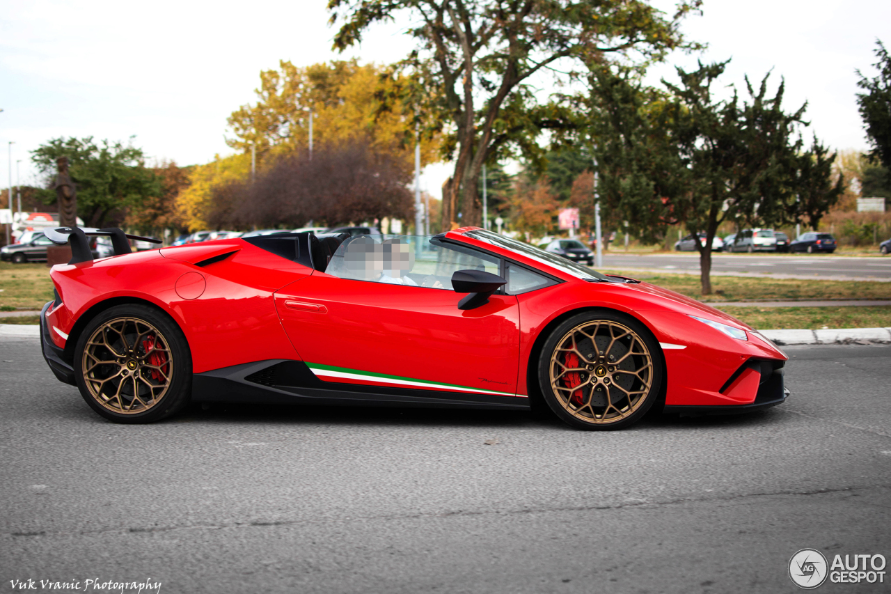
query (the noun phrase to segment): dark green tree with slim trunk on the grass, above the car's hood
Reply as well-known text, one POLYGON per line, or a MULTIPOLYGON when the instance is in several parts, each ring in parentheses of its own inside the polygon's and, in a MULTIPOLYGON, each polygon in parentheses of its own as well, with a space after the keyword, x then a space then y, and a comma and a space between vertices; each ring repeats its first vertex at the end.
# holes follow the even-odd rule
POLYGON ((746 78, 748 101, 734 90, 716 100, 712 86, 727 62, 677 69, 679 85, 663 81, 667 94, 604 68, 593 73, 595 129, 601 134, 607 205, 634 227, 653 233, 683 224, 697 242, 702 294, 711 288, 711 245, 725 221, 764 225, 819 219, 838 199, 843 181, 830 185, 826 151, 814 140, 804 153, 797 130, 805 106, 784 111, 784 83, 769 96, 746 78), (607 88, 609 92, 603 92, 607 88), (797 194, 805 194, 802 203, 797 194))

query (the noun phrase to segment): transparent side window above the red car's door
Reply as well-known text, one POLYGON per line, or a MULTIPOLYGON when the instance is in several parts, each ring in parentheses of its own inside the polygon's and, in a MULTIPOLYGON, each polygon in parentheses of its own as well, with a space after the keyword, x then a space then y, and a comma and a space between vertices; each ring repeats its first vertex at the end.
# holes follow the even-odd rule
POLYGON ((331 276, 452 291, 457 270, 499 274, 497 257, 430 235, 361 235, 341 243, 325 270, 331 276))

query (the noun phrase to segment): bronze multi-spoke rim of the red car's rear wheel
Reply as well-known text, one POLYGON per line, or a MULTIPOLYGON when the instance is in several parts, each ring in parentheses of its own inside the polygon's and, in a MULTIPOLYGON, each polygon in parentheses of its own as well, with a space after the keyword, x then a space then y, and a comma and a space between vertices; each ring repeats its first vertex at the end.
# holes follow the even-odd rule
POLYGON ((144 413, 170 388, 174 360, 168 340, 143 319, 111 318, 95 328, 81 357, 86 390, 118 415, 144 413))

